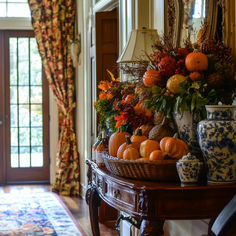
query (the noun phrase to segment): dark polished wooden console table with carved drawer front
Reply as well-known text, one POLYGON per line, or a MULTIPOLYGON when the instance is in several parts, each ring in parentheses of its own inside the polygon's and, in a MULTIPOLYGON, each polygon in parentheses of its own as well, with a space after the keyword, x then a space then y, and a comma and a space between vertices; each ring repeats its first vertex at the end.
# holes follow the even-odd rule
POLYGON ((236 194, 236 184, 181 187, 180 183, 120 178, 92 161, 87 164, 90 187, 86 201, 93 236, 100 235, 101 199, 118 211, 142 219, 140 236, 159 236, 167 219, 214 219, 236 194))

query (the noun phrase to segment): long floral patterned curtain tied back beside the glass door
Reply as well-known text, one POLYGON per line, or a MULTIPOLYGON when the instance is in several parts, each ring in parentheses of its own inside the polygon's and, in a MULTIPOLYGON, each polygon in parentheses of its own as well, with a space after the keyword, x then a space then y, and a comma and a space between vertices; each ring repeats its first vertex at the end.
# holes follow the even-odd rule
POLYGON ((53 191, 62 195, 79 194, 79 157, 73 110, 74 69, 69 42, 75 29, 74 0, 28 0, 32 24, 44 72, 59 109, 57 173, 53 191))

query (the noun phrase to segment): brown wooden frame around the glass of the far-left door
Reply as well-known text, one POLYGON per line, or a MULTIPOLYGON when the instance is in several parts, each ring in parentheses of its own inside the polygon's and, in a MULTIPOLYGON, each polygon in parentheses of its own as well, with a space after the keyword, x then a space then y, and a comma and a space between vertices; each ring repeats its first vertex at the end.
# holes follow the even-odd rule
MULTIPOLYGON (((0 179, 0 183, 2 182, 3 184, 17 184, 17 183, 49 183, 50 181, 50 138, 49 138, 49 129, 50 129, 50 123, 49 123, 49 85, 46 80, 45 74, 42 71, 42 87, 43 91, 46 91, 46 93, 43 94, 43 112, 46 112, 46 115, 43 115, 43 155, 44 155, 44 175, 42 176, 41 168, 33 167, 31 171, 26 171, 29 170, 29 168, 17 168, 12 169, 10 167, 10 162, 9 162, 9 157, 10 157, 10 135, 8 135, 8 132, 10 130, 10 106, 7 106, 6 102, 9 101, 10 99, 10 90, 9 90, 9 44, 6 44, 7 40, 9 37, 33 37, 34 33, 32 30, 4 30, 3 34, 1 37, 1 46, 8 45, 7 47, 4 48, 4 53, 3 57, 1 58, 2 61, 0 63, 4 62, 4 73, 1 74, 1 82, 3 83, 3 88, 4 89, 4 99, 1 99, 1 103, 4 106, 3 113, 5 114, 4 116, 4 123, 2 127, 4 127, 4 132, 1 135, 4 138, 4 147, 3 148, 3 153, 4 156, 1 158, 3 165, 2 168, 0 166, 0 171, 3 173, 2 176, 2 181, 0 179), (3 61, 4 60, 4 61, 3 61), (47 101, 45 103, 45 101, 47 101), (21 176, 21 180, 15 181, 14 178, 9 176, 9 170, 12 172, 12 176, 15 176, 16 174, 19 174, 21 176), (28 172, 28 173, 27 173, 28 172), (36 181, 28 180, 31 177, 31 172, 34 172, 36 174, 36 181)), ((9 133, 10 134, 10 133, 9 133)), ((0 161, 1 161, 0 160, 0 161)))

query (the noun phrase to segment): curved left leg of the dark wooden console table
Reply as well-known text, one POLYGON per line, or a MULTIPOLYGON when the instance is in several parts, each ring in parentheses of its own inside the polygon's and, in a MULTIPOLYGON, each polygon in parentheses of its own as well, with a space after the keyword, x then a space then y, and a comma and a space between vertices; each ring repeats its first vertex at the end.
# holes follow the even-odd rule
POLYGON ((96 187, 90 187, 86 192, 86 202, 89 205, 90 223, 93 236, 100 236, 98 223, 98 207, 101 203, 101 198, 97 192, 96 187))

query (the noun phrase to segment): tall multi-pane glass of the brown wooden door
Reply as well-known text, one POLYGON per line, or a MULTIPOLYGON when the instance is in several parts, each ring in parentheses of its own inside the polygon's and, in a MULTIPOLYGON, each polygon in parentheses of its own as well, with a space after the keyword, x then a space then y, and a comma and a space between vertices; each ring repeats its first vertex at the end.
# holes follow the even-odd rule
POLYGON ((11 167, 42 167, 42 64, 36 40, 11 37, 9 46, 11 167))

